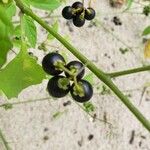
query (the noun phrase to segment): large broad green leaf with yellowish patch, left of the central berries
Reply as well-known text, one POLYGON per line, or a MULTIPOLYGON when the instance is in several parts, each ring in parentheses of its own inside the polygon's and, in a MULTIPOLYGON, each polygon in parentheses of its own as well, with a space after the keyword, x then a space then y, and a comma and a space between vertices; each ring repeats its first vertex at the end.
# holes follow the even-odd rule
POLYGON ((0 89, 10 99, 25 88, 39 84, 46 78, 42 67, 27 51, 20 53, 0 72, 0 89))

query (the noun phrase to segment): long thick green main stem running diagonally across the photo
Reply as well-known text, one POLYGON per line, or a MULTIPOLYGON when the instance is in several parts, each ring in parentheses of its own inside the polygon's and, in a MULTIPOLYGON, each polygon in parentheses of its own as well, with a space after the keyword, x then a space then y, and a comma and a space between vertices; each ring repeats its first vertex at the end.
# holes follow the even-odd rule
POLYGON ((150 122, 144 117, 144 115, 130 102, 130 100, 118 89, 118 87, 111 81, 110 77, 106 75, 102 70, 98 69, 91 61, 89 61, 80 51, 73 47, 68 41, 66 41, 61 35, 59 35, 53 28, 51 28, 45 21, 35 15, 31 9, 24 6, 20 0, 15 0, 17 6, 26 15, 32 17, 43 28, 45 28, 50 34, 52 34, 58 41, 60 41, 74 56, 76 56, 82 63, 87 64, 87 67, 101 80, 103 81, 120 100, 128 107, 128 109, 136 116, 136 118, 143 124, 143 126, 150 131, 150 122))

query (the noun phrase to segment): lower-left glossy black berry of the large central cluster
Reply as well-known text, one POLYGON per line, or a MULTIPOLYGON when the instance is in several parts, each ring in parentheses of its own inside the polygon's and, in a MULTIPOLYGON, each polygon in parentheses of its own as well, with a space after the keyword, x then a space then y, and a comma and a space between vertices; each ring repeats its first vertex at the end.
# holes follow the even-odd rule
POLYGON ((47 90, 52 97, 61 98, 68 94, 70 90, 70 83, 66 77, 63 76, 54 76, 52 77, 47 85, 47 90), (63 87, 60 87, 60 80, 67 80, 68 84, 63 87))

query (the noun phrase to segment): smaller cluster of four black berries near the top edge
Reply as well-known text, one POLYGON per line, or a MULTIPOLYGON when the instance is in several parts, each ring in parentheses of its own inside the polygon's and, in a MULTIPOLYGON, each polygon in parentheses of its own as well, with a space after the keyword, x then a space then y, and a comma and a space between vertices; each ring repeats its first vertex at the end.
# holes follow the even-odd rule
POLYGON ((84 8, 83 3, 75 2, 72 6, 66 6, 62 10, 62 16, 65 19, 73 19, 76 27, 82 27, 86 20, 92 20, 95 17, 95 10, 91 7, 84 8))

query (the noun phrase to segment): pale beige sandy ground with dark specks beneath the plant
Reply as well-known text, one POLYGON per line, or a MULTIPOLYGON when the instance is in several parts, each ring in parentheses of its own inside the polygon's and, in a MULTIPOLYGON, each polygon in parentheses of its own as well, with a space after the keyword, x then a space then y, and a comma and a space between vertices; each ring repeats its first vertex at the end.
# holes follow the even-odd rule
MULTIPOLYGON (((70 1, 69 4, 71 3, 70 1)), ((144 59, 141 33, 144 27, 150 24, 150 20, 138 13, 141 11, 141 5, 134 3, 133 9, 123 14, 120 9, 111 8, 107 0, 97 0, 93 7, 97 12, 96 20, 101 25, 89 27, 89 22, 86 22, 85 26, 79 29, 72 24, 66 25, 66 21, 59 18, 59 32, 69 35, 73 45, 105 71, 117 71, 149 63, 144 59), (114 16, 120 18, 121 26, 112 22, 114 16), (123 55, 119 48, 132 50, 123 55)), ((61 9, 62 7, 54 12, 54 15, 60 14, 61 9)), ((48 21, 51 23, 54 20, 48 21)), ((39 37, 40 42, 45 37, 45 31, 40 30, 39 37)), ((58 42, 51 44, 60 46, 58 42)), ((51 47, 49 49, 54 50, 51 47)), ((43 52, 31 51, 39 57, 40 62, 44 56, 43 52)), ((69 60, 75 59, 71 53, 65 52, 69 60)), ((150 120, 150 88, 143 92, 144 85, 150 82, 150 73, 124 76, 114 82, 150 120)), ((20 93, 18 99, 12 101, 46 98, 46 84, 47 80, 40 85, 29 87, 20 93)), ((59 100, 48 98, 14 105, 13 109, 7 111, 0 109, 0 128, 12 150, 150 150, 148 131, 115 95, 100 94, 97 85, 102 83, 96 77, 94 84, 94 113, 97 118, 107 119, 112 124, 111 128, 102 121, 93 120, 70 96, 59 100), (71 104, 64 106, 67 101, 71 101, 71 104), (54 118, 53 115, 57 112, 63 113, 54 118), (89 139, 92 135, 93 138, 89 139)), ((1 97, 0 103, 4 102, 6 100, 1 97)), ((1 143, 0 150, 4 150, 1 143)))

